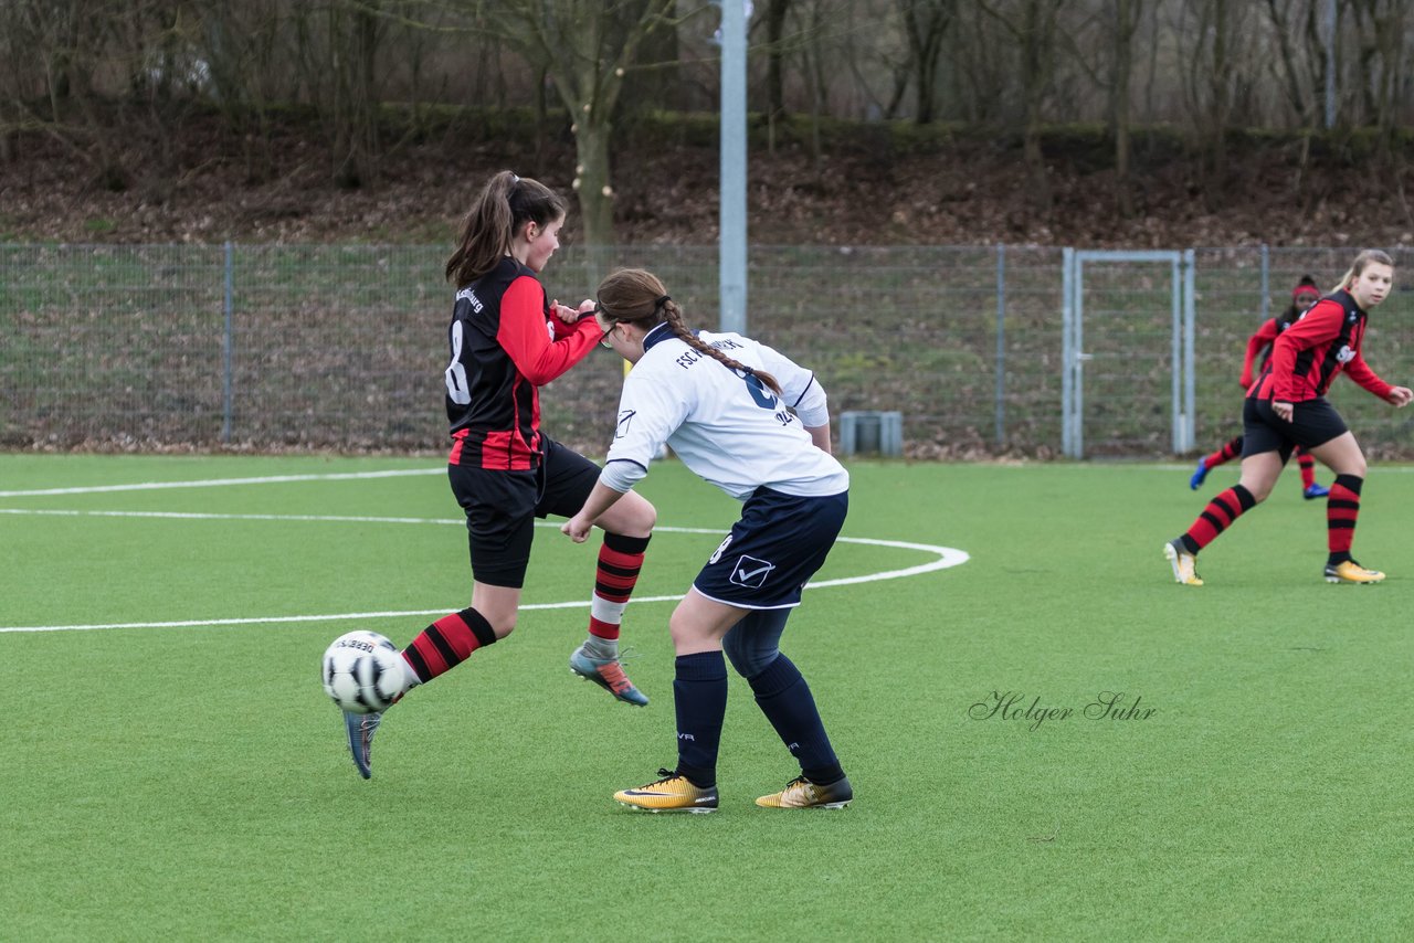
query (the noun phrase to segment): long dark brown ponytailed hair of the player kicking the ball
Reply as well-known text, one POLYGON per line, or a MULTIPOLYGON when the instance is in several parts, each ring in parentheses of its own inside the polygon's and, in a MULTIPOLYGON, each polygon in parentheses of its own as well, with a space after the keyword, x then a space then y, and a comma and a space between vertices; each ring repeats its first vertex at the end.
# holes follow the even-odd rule
POLYGON ((461 223, 457 252, 447 260, 447 281, 462 288, 486 274, 510 252, 527 222, 544 226, 564 216, 564 201, 529 177, 503 170, 492 177, 461 223))

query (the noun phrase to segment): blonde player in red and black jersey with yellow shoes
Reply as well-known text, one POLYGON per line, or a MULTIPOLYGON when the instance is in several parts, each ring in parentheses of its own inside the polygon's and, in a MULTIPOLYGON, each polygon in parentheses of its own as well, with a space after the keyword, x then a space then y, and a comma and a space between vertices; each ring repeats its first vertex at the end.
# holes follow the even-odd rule
POLYGON ((1340 287, 1273 344, 1271 361, 1243 403, 1241 481, 1208 502, 1184 534, 1164 544, 1164 556, 1178 582, 1203 584, 1196 573, 1198 551, 1271 493, 1298 445, 1335 472, 1326 499, 1326 581, 1369 584, 1384 580, 1383 573, 1362 567, 1350 556, 1365 484, 1365 454, 1325 394, 1336 375, 1345 372, 1397 407, 1414 399, 1407 386, 1381 380, 1360 355, 1367 312, 1389 297, 1393 284, 1394 262, 1383 252, 1367 249, 1356 256, 1340 287))

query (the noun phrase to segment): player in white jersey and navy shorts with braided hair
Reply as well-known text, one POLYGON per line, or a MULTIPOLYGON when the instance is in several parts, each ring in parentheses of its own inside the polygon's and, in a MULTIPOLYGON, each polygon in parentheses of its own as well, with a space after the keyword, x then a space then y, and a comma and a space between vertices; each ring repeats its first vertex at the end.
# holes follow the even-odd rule
POLYGON ((771 809, 841 809, 854 793, 810 687, 781 653, 800 590, 824 563, 848 510, 850 475, 830 455, 830 411, 814 375, 740 334, 689 331, 663 283, 642 269, 598 290, 605 342, 633 363, 608 461, 561 530, 581 541, 646 474, 663 443, 687 468, 744 502, 741 520, 673 611, 677 765, 614 799, 649 812, 717 809, 727 664, 797 759, 800 775, 762 796, 771 809), (724 653, 725 652, 725 659, 724 653))

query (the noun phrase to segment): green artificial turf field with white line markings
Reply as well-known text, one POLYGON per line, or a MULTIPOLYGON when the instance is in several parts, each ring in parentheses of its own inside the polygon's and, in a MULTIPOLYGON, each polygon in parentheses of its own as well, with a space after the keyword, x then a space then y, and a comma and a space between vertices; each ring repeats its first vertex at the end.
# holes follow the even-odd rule
POLYGON ((1366 482, 1383 585, 1321 580, 1288 471, 1188 588, 1161 546, 1233 467, 854 462, 783 642, 854 806, 754 806, 796 768, 734 677, 721 810, 650 816, 609 796, 674 762, 667 616, 735 513, 679 464, 652 704, 570 674, 598 541, 539 530, 515 635, 365 782, 320 655, 467 605, 437 459, 0 455, 0 937, 1408 939, 1411 472, 1366 482))

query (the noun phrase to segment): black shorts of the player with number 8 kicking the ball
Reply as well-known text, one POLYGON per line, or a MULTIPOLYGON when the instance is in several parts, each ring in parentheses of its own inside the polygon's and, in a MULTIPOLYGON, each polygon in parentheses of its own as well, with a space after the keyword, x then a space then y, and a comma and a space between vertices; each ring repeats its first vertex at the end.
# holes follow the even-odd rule
POLYGON ((467 513, 471 575, 477 582, 519 590, 525 585, 534 519, 573 517, 600 479, 600 467, 542 435, 542 461, 533 471, 495 471, 448 465, 451 493, 467 513))

